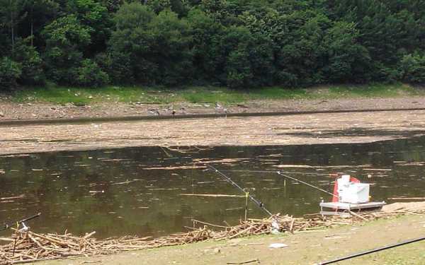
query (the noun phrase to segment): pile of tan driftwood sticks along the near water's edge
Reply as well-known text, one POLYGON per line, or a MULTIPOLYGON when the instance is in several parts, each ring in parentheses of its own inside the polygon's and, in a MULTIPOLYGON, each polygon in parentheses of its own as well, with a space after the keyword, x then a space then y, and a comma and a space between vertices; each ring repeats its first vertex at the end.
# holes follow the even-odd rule
MULTIPOLYGON (((370 213, 353 213, 353 218, 311 216, 293 218, 292 216, 274 216, 268 219, 248 219, 236 226, 212 225, 193 220, 191 231, 176 233, 166 237, 152 239, 151 237, 120 237, 96 240, 91 232, 82 237, 68 232, 59 234, 39 234, 32 231, 20 232, 15 230, 7 245, 0 245, 0 265, 21 264, 47 259, 65 259, 70 257, 89 257, 99 254, 113 254, 116 252, 149 249, 172 245, 184 245, 204 240, 226 240, 247 235, 268 234, 276 229, 279 232, 314 232, 334 225, 347 225, 364 220, 392 218, 400 215, 423 214, 424 209, 409 211, 400 210, 390 213, 383 211, 370 213), (274 223, 274 224, 273 224, 274 223), (202 225, 196 228, 196 225, 202 225), (275 228, 273 228, 273 225, 275 228), (211 230, 210 228, 215 230, 211 230), (217 231, 220 229, 220 231, 217 231)), ((276 232, 276 230, 275 230, 276 232)))

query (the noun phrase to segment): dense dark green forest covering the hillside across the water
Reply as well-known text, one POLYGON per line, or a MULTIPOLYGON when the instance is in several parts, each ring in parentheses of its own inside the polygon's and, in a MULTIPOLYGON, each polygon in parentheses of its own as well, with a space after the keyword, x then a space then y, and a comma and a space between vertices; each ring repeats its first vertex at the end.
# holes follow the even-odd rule
POLYGON ((0 0, 0 90, 425 82, 423 0, 0 0))

